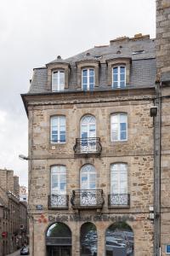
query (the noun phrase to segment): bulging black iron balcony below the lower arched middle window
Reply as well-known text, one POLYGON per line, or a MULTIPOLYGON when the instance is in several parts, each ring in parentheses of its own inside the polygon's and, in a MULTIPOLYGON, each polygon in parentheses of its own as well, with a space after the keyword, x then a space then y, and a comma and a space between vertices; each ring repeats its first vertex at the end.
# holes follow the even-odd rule
POLYGON ((71 205, 73 209, 101 209, 104 205, 103 190, 72 190, 71 205))

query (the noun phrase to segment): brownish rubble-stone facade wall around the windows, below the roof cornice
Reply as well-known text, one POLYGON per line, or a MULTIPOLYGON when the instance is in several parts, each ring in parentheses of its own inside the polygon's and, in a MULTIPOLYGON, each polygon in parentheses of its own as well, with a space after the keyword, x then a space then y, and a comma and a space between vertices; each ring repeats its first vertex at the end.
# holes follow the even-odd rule
MULTIPOLYGON (((67 195, 71 198, 72 189, 80 188, 81 167, 90 163, 97 171, 97 189, 103 189, 105 205, 99 214, 118 216, 133 215, 133 221, 127 221, 134 233, 135 256, 153 255, 153 223, 150 220, 150 206, 153 206, 153 119, 150 118, 150 107, 153 106, 154 90, 146 96, 132 95, 122 101, 108 102, 108 98, 99 102, 90 102, 86 96, 77 103, 48 104, 34 102, 29 105, 29 155, 30 162, 30 198, 31 213, 31 252, 33 255, 45 256, 45 232, 50 225, 49 215, 75 214, 69 203, 69 210, 48 210, 50 195, 50 167, 66 166, 67 195), (127 141, 111 143, 111 113, 127 113, 127 141), (66 143, 50 143, 50 116, 62 114, 66 117, 66 143), (102 152, 99 156, 75 157, 73 146, 80 137, 80 120, 85 114, 93 114, 96 118, 97 137, 100 137, 102 152), (32 150, 31 150, 32 149, 32 150), (130 207, 127 209, 109 209, 108 195, 111 194, 111 164, 127 163, 128 193, 130 207), (42 211, 36 206, 42 205, 42 211), (39 222, 42 215, 45 221, 39 222)), ((71 96, 70 96, 71 97, 71 96)), ((74 97, 74 96, 73 96, 74 97)), ((71 98, 70 98, 71 101, 71 98)), ((96 211, 81 211, 82 216, 96 211)), ((98 255, 105 255, 105 230, 113 221, 96 221, 98 230, 98 255)), ((72 231, 72 255, 79 255, 79 233, 83 222, 68 222, 72 231)))

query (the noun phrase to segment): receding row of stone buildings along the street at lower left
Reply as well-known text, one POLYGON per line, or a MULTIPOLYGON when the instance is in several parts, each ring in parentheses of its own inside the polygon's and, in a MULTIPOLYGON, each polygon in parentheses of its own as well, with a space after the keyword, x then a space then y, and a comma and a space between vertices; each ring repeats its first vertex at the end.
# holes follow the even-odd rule
POLYGON ((19 177, 12 170, 0 170, 0 256, 20 248, 27 235, 27 206, 20 202, 19 177))

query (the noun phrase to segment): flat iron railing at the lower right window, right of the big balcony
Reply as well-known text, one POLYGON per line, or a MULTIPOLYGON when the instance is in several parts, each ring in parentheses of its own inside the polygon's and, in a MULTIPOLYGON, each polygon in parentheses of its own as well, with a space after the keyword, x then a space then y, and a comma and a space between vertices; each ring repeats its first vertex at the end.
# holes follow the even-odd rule
POLYGON ((109 208, 129 208, 130 195, 129 194, 111 194, 108 195, 109 208))

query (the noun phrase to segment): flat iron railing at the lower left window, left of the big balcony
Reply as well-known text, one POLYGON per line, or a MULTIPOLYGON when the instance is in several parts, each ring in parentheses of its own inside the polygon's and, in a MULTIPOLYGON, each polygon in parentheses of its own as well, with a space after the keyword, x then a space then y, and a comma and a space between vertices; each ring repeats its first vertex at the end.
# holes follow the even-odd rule
POLYGON ((48 195, 48 209, 68 209, 68 195, 48 195))

